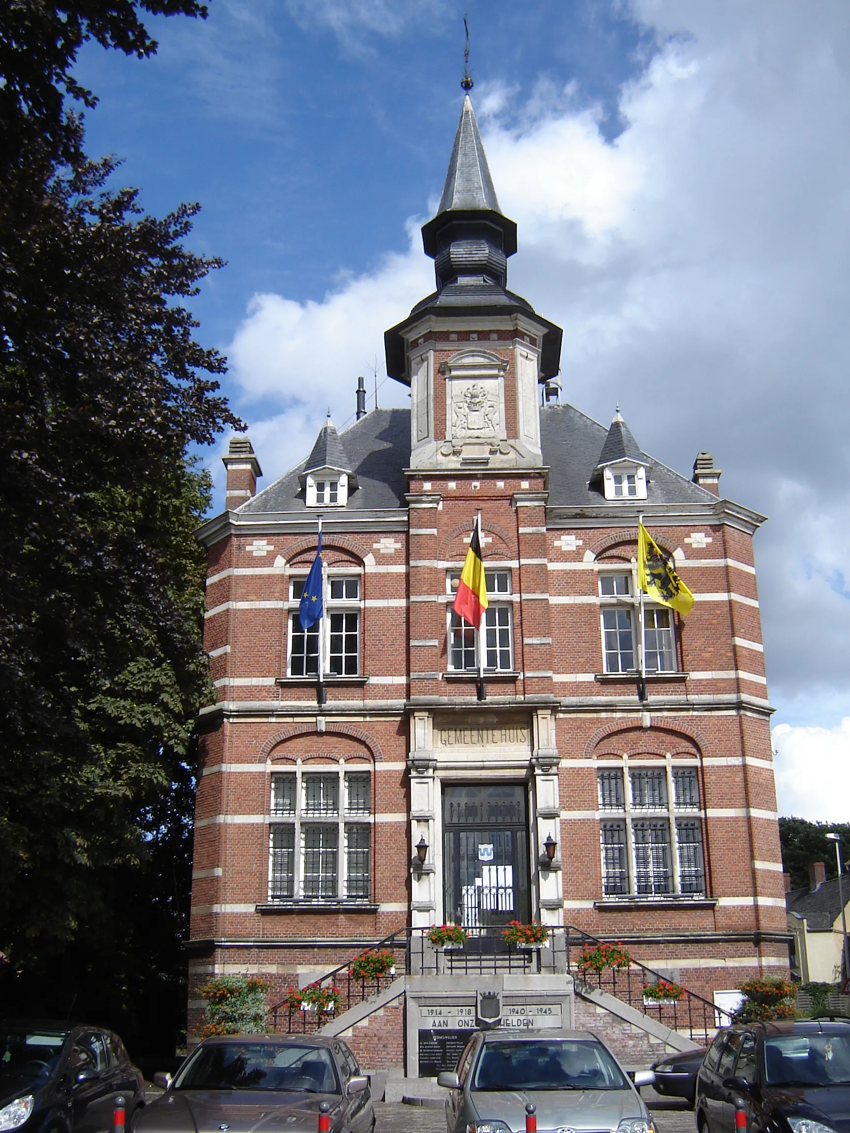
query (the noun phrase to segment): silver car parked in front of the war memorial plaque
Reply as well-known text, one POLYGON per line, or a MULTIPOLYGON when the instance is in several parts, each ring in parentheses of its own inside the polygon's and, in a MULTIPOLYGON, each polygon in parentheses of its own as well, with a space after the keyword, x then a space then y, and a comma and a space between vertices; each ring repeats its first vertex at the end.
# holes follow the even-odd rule
POLYGON ((437 1083, 449 1090, 448 1133, 520 1133, 526 1104, 536 1106, 537 1127, 655 1133, 636 1087, 652 1085, 652 1071, 632 1083, 595 1034, 586 1031, 477 1032, 457 1071, 437 1083))

